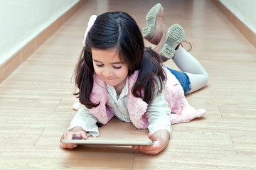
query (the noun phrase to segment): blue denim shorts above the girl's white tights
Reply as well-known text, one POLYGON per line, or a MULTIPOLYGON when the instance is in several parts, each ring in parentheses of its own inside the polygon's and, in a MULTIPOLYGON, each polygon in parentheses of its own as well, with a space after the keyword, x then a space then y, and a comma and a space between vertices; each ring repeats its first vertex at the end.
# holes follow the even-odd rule
MULTIPOLYGON (((168 67, 166 67, 167 69, 169 69, 168 67)), ((178 72, 174 69, 169 69, 169 71, 174 74, 174 76, 176 77, 176 79, 178 79, 178 81, 180 82, 184 94, 188 94, 188 92, 191 90, 191 81, 188 77, 188 75, 184 72, 178 72)))

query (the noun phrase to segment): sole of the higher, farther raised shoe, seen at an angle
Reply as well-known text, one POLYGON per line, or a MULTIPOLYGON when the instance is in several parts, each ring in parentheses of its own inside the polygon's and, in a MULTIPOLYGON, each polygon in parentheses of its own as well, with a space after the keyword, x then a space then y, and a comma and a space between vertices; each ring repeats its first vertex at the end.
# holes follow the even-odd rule
POLYGON ((153 6, 148 13, 146 13, 146 27, 142 30, 142 35, 146 40, 151 40, 156 30, 156 18, 159 15, 161 4, 153 6))

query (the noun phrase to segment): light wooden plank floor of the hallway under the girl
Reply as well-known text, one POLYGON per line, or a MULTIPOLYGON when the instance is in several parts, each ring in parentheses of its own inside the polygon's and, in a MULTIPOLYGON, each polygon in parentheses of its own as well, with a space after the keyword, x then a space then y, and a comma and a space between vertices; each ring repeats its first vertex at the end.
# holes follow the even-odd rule
MULTIPOLYGON (((160 2, 166 24, 183 26, 191 54, 208 71, 208 86, 187 96, 192 106, 206 108, 206 116, 173 125, 169 147, 156 156, 130 147, 60 149, 60 137, 75 115, 72 75, 88 18, 126 11, 143 28, 156 4, 88 0, 0 84, 0 169, 256 169, 255 48, 210 0, 160 2)), ((176 68, 172 61, 166 66, 176 68)), ((97 139, 146 134, 113 119, 97 139)))

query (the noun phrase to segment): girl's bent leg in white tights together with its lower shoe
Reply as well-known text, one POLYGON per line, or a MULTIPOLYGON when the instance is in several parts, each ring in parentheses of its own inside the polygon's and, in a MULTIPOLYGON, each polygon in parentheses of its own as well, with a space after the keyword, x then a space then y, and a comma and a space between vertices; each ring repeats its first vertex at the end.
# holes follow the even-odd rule
MULTIPOLYGON (((183 38, 183 28, 178 24, 174 24, 169 28, 168 32, 163 35, 161 41, 156 45, 154 50, 159 53, 164 62, 171 58, 174 60, 178 68, 181 69, 181 71, 186 75, 184 76, 183 74, 172 73, 175 76, 182 75, 184 77, 188 77, 189 83, 187 86, 189 89, 191 88, 188 93, 192 93, 193 91, 197 91, 198 89, 206 86, 208 82, 208 74, 206 69, 204 69, 203 66, 189 52, 184 50, 181 45, 177 49, 178 44, 182 42, 183 38)), ((182 77, 182 79, 185 79, 184 77, 182 77)), ((186 92, 186 88, 184 91, 186 92)))

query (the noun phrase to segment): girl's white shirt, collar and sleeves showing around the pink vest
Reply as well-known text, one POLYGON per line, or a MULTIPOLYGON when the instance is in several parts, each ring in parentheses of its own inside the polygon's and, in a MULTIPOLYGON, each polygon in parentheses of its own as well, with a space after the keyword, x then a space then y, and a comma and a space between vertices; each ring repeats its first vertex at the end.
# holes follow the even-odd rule
MULTIPOLYGON (((127 110, 127 103, 129 100, 128 79, 120 96, 117 96, 117 92, 113 86, 107 85, 107 96, 109 97, 107 107, 110 108, 110 111, 112 111, 119 120, 131 122, 127 110)), ((171 117, 169 114, 171 114, 171 108, 169 108, 169 105, 164 98, 163 89, 161 94, 154 98, 146 110, 146 118, 149 122, 149 132, 154 133, 157 130, 164 129, 171 133, 171 117)), ((71 130, 75 126, 79 126, 87 132, 87 136, 98 136, 99 130, 96 123, 97 118, 95 118, 84 105, 80 105, 78 113, 73 120, 71 120, 70 128, 68 128, 68 130, 71 130)))

